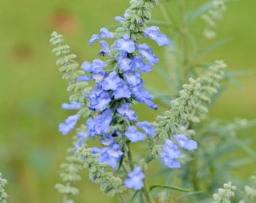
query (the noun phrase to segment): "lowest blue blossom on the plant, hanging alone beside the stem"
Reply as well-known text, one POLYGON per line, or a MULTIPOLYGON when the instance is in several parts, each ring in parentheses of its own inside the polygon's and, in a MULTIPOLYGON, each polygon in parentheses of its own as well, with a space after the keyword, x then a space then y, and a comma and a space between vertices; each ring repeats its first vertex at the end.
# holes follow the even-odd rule
POLYGON ((133 188, 133 189, 142 189, 144 186, 143 179, 145 178, 145 174, 142 172, 142 168, 136 167, 133 169, 133 171, 130 171, 128 173, 128 177, 126 180, 124 180, 124 185, 127 188, 133 188))

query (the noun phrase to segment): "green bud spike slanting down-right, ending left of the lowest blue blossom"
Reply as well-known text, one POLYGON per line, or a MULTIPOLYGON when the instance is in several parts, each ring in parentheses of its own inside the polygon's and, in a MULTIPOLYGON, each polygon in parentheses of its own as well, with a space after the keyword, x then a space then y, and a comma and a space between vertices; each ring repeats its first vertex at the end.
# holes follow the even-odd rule
POLYGON ((115 177, 112 172, 107 172, 108 163, 99 163, 99 153, 93 154, 92 148, 85 146, 78 148, 80 159, 84 159, 84 168, 89 169, 90 180, 95 183, 100 183, 100 190, 106 192, 108 196, 114 197, 115 194, 122 193, 126 187, 123 186, 122 180, 115 177))

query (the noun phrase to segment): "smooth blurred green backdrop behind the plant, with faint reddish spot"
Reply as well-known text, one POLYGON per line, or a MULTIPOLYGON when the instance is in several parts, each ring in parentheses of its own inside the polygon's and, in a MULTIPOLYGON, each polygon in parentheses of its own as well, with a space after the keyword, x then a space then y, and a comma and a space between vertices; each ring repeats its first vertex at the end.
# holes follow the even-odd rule
MULTIPOLYGON (((99 46, 89 47, 90 36, 113 25, 114 17, 123 15, 128 5, 127 0, 0 0, 0 171, 8 179, 9 203, 61 202, 62 198, 53 186, 72 140, 58 132, 59 123, 70 113, 60 108, 69 94, 51 54, 50 33, 61 32, 78 61, 91 61, 99 46)), ((218 38, 232 37, 232 41, 207 56, 208 62, 224 59, 230 71, 256 71, 255 7, 254 0, 228 5, 217 31, 218 38)), ((152 18, 163 20, 159 8, 153 9, 152 18)), ((165 88, 154 72, 148 75, 151 86, 165 88)), ((242 89, 228 85, 210 111, 213 117, 255 118, 255 74, 238 80, 242 89)), ((255 136, 255 130, 242 136, 255 136)), ((241 175, 250 174, 245 170, 241 175)), ((84 180, 78 202, 114 202, 87 181, 86 172, 84 180)))

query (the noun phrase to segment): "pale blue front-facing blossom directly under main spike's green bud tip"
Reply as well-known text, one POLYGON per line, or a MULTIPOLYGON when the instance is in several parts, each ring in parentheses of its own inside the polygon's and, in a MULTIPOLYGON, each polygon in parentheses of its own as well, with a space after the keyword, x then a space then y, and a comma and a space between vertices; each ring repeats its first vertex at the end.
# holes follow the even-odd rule
POLYGON ((126 51, 127 53, 133 53, 136 50, 135 42, 130 40, 130 35, 125 34, 123 38, 116 40, 114 44, 115 50, 126 51))

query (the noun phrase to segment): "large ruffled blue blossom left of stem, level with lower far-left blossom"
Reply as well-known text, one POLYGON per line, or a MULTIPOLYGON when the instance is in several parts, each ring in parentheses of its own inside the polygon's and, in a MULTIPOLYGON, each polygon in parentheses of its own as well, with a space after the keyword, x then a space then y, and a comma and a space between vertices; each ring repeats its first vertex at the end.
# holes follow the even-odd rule
POLYGON ((87 120, 87 130, 90 137, 108 133, 111 120, 111 109, 103 111, 102 114, 97 115, 95 119, 89 118, 87 120))

